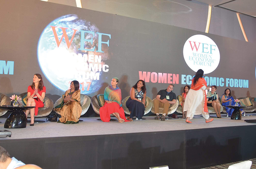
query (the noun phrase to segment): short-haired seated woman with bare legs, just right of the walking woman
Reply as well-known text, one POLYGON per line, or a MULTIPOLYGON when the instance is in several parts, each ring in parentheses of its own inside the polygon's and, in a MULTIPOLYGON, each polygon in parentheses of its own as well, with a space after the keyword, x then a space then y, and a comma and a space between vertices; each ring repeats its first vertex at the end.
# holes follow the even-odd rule
POLYGON ((212 90, 207 93, 207 106, 213 107, 214 111, 218 118, 221 118, 220 115, 220 102, 218 100, 218 94, 215 92, 217 89, 217 86, 212 85, 212 90))

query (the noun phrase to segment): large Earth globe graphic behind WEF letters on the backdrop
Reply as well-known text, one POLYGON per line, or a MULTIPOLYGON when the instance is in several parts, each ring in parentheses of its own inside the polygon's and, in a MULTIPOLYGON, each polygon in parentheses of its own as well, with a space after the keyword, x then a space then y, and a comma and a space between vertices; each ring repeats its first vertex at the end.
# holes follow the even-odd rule
POLYGON ((85 41, 84 49, 93 47, 97 49, 98 34, 96 32, 99 32, 99 29, 91 22, 70 14, 53 20, 45 27, 38 42, 37 56, 44 75, 54 86, 66 91, 70 82, 77 80, 80 83, 81 93, 89 94, 100 89, 102 81, 100 76, 105 72, 101 69, 99 71, 99 67, 102 67, 108 59, 108 47, 102 48, 104 53, 95 52, 96 50, 79 50, 80 30, 94 32, 94 35, 84 34, 84 39, 92 39, 93 42, 85 41), (76 33, 74 29, 77 30, 76 33), (63 30, 67 34, 66 37, 63 30), (68 43, 71 42, 69 47, 66 40, 69 41, 68 43), (90 58, 89 55, 91 55, 90 58), (92 68, 93 66, 98 69, 92 68))

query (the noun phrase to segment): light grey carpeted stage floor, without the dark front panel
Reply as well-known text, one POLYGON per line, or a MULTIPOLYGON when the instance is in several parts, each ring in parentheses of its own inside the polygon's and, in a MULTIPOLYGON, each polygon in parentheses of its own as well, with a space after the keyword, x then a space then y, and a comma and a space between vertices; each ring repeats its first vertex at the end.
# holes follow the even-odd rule
MULTIPOLYGON (((222 116, 216 118, 215 114, 211 114, 214 120, 205 123, 202 116, 197 115, 192 119, 192 123, 188 124, 185 119, 169 119, 165 121, 154 120, 155 116, 144 116, 146 120, 134 120, 133 122, 119 123, 118 121, 102 122, 98 121, 100 117, 82 117, 78 124, 62 124, 57 122, 35 123, 35 126, 29 126, 23 129, 7 129, 12 131, 11 137, 0 138, 0 140, 8 139, 25 139, 25 138, 47 138, 47 137, 64 137, 64 136, 92 136, 106 134, 124 134, 124 133, 140 133, 140 132, 158 132, 173 130, 193 130, 205 128, 218 128, 230 126, 248 126, 256 125, 256 123, 247 123, 244 120, 256 119, 255 113, 247 113, 242 116, 242 120, 230 120, 230 117, 222 116), (249 116, 248 116, 249 115, 249 116)), ((222 114, 224 115, 224 114, 222 114)), ((112 117, 116 119, 115 117, 112 117)), ((45 117, 36 118, 36 120, 45 120, 45 117)), ((6 118, 0 118, 0 130, 4 129, 6 118)))

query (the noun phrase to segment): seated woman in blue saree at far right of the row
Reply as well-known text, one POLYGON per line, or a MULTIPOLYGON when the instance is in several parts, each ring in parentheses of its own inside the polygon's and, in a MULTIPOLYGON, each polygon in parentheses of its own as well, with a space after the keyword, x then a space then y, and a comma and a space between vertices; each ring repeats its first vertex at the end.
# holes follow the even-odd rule
MULTIPOLYGON (((225 106, 228 116, 231 116, 234 109, 228 108, 227 106, 235 106, 235 99, 231 96, 231 90, 226 89, 224 94, 221 97, 222 106, 225 106)), ((240 106, 240 104, 238 104, 240 106)), ((244 113, 243 109, 240 109, 242 113, 244 113)))

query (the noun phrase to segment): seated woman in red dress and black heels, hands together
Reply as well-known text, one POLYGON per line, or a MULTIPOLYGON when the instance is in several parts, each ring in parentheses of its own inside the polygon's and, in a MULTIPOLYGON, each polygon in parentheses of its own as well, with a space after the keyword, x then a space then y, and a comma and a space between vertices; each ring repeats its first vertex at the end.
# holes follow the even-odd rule
POLYGON ((31 115, 30 126, 34 126, 34 115, 37 115, 38 107, 44 107, 44 97, 46 88, 44 86, 42 75, 36 73, 33 77, 32 85, 28 86, 27 106, 35 106, 35 108, 26 110, 26 116, 31 115))

